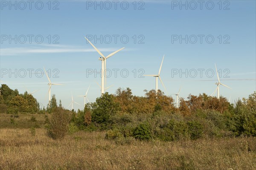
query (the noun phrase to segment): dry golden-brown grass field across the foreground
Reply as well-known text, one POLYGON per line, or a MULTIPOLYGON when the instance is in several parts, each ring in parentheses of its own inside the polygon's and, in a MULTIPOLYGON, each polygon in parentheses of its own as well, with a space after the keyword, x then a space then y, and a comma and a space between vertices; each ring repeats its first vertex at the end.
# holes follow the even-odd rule
POLYGON ((0 170, 253 170, 256 138, 120 145, 104 132, 55 141, 36 129, 0 129, 0 170))

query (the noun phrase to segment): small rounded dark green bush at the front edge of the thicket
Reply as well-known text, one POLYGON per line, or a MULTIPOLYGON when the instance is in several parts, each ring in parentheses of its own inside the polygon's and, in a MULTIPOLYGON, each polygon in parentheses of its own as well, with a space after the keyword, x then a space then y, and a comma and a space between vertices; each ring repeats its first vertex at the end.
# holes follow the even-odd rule
POLYGON ((151 130, 148 124, 141 123, 133 132, 133 136, 136 139, 148 140, 151 138, 151 130))

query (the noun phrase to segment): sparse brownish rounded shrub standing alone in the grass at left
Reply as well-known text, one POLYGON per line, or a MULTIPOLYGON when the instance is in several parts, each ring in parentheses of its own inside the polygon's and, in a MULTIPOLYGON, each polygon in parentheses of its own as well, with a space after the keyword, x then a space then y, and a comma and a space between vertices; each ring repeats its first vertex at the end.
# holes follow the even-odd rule
POLYGON ((63 138, 67 131, 68 125, 71 119, 70 111, 63 108, 55 108, 49 119, 49 125, 47 126, 47 135, 52 139, 63 138))

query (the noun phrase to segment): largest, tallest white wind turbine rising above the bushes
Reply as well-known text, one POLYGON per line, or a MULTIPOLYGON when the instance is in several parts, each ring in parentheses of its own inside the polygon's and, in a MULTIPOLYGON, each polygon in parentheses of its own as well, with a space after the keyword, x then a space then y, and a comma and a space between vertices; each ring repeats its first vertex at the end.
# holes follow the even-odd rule
POLYGON ((101 93, 102 94, 104 94, 104 90, 105 90, 105 85, 104 85, 104 81, 105 81, 105 79, 106 79, 106 77, 104 76, 104 73, 105 73, 105 70, 106 70, 106 60, 109 58, 109 57, 111 57, 111 56, 113 56, 114 54, 116 54, 117 52, 119 52, 119 51, 121 51, 122 49, 124 49, 124 47, 123 48, 121 48, 121 49, 119 49, 119 50, 117 50, 117 51, 115 51, 115 52, 113 52, 113 53, 111 53, 111 54, 109 54, 107 57, 105 57, 86 37, 84 37, 89 43, 90 43, 90 45, 92 45, 93 46, 93 48, 99 53, 99 55, 100 56, 102 56, 102 57, 99 57, 99 60, 100 61, 102 61, 102 73, 101 73, 101 93), (104 77, 105 77, 105 79, 104 79, 104 77))

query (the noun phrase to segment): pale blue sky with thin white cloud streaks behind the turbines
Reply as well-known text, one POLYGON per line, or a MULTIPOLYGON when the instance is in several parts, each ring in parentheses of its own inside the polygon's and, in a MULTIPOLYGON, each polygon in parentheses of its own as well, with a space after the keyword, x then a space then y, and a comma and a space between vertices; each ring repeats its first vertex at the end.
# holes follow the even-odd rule
MULTIPOLYGON (((48 0, 32 1, 31 9, 29 3, 25 7, 23 2, 12 1, 17 6, 11 6, 9 1, 1 0, 1 83, 21 93, 26 88, 39 90, 34 96, 43 105, 47 105, 48 91, 46 75, 40 77, 43 67, 50 69, 53 83, 64 84, 53 86, 52 94, 61 99, 65 107, 71 102, 71 93, 74 101, 82 105, 83 98, 77 96, 85 94, 89 85, 90 102, 100 96, 100 88, 95 83, 100 83, 100 75, 87 75, 91 69, 99 72, 101 68, 99 54, 84 39, 90 35, 102 40, 95 42, 93 38, 91 42, 105 56, 125 47, 107 60, 107 68, 112 71, 107 86, 113 85, 107 90, 109 93, 115 93, 119 87, 130 87, 134 95, 143 96, 144 89, 154 89, 153 77, 140 78, 139 75, 157 74, 164 54, 160 76, 167 95, 177 93, 180 87, 180 96, 185 98, 189 94, 212 94, 217 82, 215 63, 221 72, 221 82, 232 88, 221 87, 221 95, 233 101, 256 91, 254 0, 204 1, 201 7, 198 1, 182 1, 187 9, 180 1, 167 0, 117 1, 116 9, 113 1, 97 1, 102 9, 95 1, 51 1, 51 6, 48 0), (43 7, 39 10, 41 4, 43 7), (10 37, 13 40, 9 41, 10 37), (15 69, 17 77, 10 74, 15 69), (31 77, 28 69, 34 69, 31 77), (113 69, 119 69, 116 77, 113 69), (23 76, 24 70, 26 76, 23 76), (186 70, 187 77, 180 75, 180 71, 186 70), (121 76, 121 71, 123 74, 128 71, 128 77, 121 76), (179 73, 174 74, 175 71, 179 73)), ((160 82, 158 86, 164 91, 160 82)), ((74 105, 74 108, 82 107, 74 105)))

